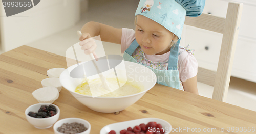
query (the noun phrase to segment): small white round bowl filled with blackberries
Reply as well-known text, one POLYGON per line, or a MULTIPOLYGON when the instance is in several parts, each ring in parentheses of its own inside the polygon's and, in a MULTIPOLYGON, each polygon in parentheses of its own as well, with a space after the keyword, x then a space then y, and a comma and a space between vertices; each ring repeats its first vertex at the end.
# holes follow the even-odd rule
POLYGON ((50 103, 34 104, 25 110, 28 122, 38 129, 50 128, 59 119, 59 113, 58 106, 50 103))

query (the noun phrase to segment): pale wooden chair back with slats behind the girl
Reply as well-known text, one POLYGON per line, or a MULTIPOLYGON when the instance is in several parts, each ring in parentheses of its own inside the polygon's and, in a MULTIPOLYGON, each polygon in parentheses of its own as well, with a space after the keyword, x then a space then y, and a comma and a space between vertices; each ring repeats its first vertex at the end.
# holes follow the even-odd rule
POLYGON ((185 24, 223 34, 217 71, 198 67, 197 81, 214 86, 212 99, 226 101, 243 4, 229 2, 226 18, 211 14, 186 17, 185 24))

